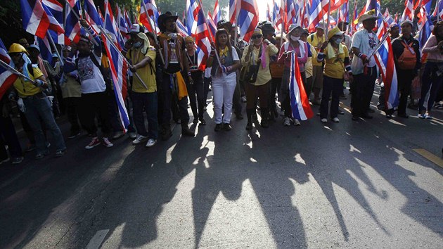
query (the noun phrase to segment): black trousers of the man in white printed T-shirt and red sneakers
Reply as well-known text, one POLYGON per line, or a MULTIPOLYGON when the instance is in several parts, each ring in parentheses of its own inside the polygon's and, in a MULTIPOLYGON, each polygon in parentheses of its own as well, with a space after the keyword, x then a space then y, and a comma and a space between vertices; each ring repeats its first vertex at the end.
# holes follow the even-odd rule
POLYGON ((82 94, 82 108, 80 111, 80 120, 86 129, 86 132, 97 135, 97 127, 95 118, 101 123, 101 132, 103 136, 108 137, 111 132, 109 123, 109 110, 108 110, 108 94, 105 91, 82 94))

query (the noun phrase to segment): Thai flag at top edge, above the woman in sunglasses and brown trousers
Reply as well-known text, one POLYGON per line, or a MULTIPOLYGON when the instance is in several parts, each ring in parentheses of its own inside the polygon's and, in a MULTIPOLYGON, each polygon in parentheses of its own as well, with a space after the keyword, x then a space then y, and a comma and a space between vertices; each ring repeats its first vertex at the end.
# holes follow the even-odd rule
POLYGON ((240 37, 248 41, 252 37, 252 33, 257 27, 259 20, 259 11, 257 1, 255 0, 238 0, 240 1, 237 24, 240 27, 240 37))

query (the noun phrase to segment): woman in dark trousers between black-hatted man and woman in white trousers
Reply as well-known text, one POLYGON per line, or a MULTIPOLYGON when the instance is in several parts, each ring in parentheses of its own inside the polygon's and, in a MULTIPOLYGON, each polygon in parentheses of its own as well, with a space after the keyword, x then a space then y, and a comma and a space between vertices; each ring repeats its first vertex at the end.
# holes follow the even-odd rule
POLYGON ((194 38, 189 36, 185 38, 186 51, 184 52, 183 61, 184 67, 187 74, 188 85, 188 96, 189 102, 191 102, 191 110, 194 115, 194 124, 200 123, 206 125, 205 118, 203 114, 205 113, 205 96, 204 96, 204 86, 203 86, 203 71, 198 68, 198 56, 197 51, 195 51, 195 41, 194 38), (195 98, 197 94, 197 98, 195 98), (198 109, 197 109, 198 103, 198 109))

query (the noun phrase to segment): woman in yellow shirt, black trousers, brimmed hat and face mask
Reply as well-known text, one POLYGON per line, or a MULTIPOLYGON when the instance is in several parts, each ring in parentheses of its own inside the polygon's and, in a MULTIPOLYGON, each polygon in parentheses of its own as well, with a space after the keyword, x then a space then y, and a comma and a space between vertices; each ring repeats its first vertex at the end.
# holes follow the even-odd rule
MULTIPOLYGON (((343 90, 344 73, 347 71, 352 75, 351 66, 349 64, 349 53, 347 47, 342 44, 343 32, 338 27, 334 27, 328 33, 328 41, 321 46, 317 61, 325 61, 323 71, 323 93, 321 94, 320 118, 321 122, 328 122, 328 103, 329 96, 332 94, 330 101, 330 119, 333 122, 338 120, 338 103, 340 102, 340 94, 343 90)), ((352 77, 352 76, 349 76, 352 77)))

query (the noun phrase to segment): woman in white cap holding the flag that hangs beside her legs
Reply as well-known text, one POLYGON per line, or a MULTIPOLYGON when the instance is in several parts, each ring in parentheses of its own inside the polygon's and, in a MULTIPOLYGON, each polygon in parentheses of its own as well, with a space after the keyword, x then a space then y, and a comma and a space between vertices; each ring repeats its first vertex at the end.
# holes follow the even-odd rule
MULTIPOLYGON (((283 80, 278 93, 278 100, 281 102, 283 109, 285 110, 285 118, 283 120, 284 126, 290 126, 292 120, 292 112, 290 108, 290 96, 289 96, 289 76, 290 76, 290 53, 297 54, 297 61, 300 68, 300 74, 302 75, 303 84, 306 82, 306 76, 304 75, 304 63, 307 62, 308 49, 307 44, 300 39, 302 34, 302 27, 297 24, 291 24, 289 26, 289 32, 286 34, 286 41, 280 49, 278 54, 278 62, 285 63, 285 70, 283 71, 283 80)), ((292 120, 294 125, 300 125, 300 121, 292 120)))

